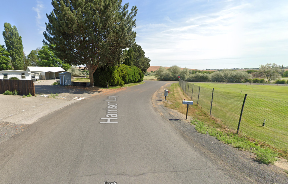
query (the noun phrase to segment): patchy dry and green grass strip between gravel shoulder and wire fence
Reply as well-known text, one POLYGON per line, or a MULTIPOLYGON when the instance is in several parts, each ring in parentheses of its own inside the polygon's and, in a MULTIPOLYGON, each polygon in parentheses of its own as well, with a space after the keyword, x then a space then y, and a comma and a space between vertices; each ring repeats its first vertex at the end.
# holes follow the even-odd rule
MULTIPOLYGON (((173 83, 170 87, 170 95, 166 99, 170 103, 164 105, 168 108, 177 110, 186 114, 186 105, 182 104, 183 99, 190 100, 187 97, 178 83, 173 83)), ((255 160, 264 164, 273 164, 278 157, 288 158, 288 151, 277 149, 264 142, 252 139, 245 135, 237 134, 235 130, 228 129, 224 124, 214 117, 208 115, 205 110, 197 105, 190 105, 188 115, 193 117, 191 124, 195 125, 197 132, 202 134, 209 134, 219 141, 228 144, 239 150, 250 151, 256 155, 255 160)))

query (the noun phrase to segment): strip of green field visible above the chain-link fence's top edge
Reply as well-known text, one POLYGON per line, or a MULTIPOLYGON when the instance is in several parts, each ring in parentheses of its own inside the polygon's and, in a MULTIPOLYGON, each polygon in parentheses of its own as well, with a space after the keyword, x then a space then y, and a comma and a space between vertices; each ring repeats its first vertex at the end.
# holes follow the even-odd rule
MULTIPOLYGON (((190 85, 192 83, 193 82, 190 82, 190 85)), ((194 85, 211 89, 214 88, 225 92, 247 94, 248 96, 288 101, 288 86, 217 83, 194 83, 194 85)))

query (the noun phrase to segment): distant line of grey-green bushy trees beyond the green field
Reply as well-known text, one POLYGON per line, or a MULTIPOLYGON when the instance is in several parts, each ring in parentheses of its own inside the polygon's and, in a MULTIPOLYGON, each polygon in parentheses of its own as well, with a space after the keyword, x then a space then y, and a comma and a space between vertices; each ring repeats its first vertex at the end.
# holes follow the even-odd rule
MULTIPOLYGON (((228 70, 223 69, 216 72, 188 70, 184 68, 181 70, 179 66, 171 66, 169 69, 165 69, 160 66, 155 72, 149 72, 145 75, 153 75, 157 80, 178 81, 180 76, 183 80, 190 82, 226 82, 226 83, 241 83, 241 82, 253 82, 263 83, 265 79, 270 82, 281 77, 281 73, 286 75, 288 71, 283 72, 279 65, 267 63, 266 65, 260 65, 259 70, 228 70)), ((276 80, 276 83, 286 83, 286 80, 276 80)))

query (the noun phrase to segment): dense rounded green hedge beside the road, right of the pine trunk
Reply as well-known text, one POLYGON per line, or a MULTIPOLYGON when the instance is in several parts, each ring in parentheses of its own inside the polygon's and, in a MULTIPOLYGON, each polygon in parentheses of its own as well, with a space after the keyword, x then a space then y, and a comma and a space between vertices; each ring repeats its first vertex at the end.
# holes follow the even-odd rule
POLYGON ((94 85, 123 86, 124 84, 137 83, 143 81, 143 72, 137 66, 108 66, 97 69, 94 73, 94 85))

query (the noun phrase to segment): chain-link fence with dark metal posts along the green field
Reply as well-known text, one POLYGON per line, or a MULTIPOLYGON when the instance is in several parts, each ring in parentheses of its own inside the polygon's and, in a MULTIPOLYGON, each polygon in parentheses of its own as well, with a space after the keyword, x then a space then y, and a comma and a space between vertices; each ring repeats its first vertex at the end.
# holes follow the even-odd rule
POLYGON ((210 89, 180 79, 185 94, 229 129, 288 148, 288 102, 210 89))

